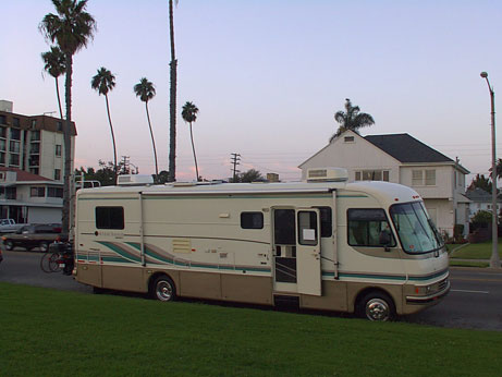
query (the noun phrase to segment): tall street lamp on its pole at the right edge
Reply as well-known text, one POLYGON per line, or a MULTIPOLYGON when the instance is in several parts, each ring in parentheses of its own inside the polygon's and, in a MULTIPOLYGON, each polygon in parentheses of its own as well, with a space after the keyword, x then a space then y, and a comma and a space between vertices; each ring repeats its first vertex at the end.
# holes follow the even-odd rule
POLYGON ((488 73, 481 72, 481 77, 487 81, 491 99, 491 258, 490 267, 500 268, 499 236, 498 236, 498 214, 497 214, 497 166, 495 166, 495 93, 488 81, 488 73))

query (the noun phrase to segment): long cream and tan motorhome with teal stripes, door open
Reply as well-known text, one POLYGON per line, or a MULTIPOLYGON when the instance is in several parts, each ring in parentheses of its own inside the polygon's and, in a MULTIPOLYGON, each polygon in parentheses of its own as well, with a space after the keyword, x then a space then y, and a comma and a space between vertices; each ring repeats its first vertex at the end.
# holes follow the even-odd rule
MULTIPOLYGON (((342 172, 341 172, 342 171, 342 172)), ((356 312, 418 312, 450 290, 448 254, 409 187, 315 169, 298 183, 83 188, 76 280, 96 289, 356 312)))

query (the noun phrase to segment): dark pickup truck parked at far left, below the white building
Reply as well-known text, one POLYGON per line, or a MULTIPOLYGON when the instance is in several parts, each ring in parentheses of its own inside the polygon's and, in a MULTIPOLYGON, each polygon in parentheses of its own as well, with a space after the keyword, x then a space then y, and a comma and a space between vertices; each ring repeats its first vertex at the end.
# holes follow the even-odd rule
POLYGON ((60 223, 24 226, 15 233, 2 236, 3 245, 8 251, 19 246, 27 251, 38 247, 40 251, 47 252, 50 243, 61 239, 63 238, 60 223))

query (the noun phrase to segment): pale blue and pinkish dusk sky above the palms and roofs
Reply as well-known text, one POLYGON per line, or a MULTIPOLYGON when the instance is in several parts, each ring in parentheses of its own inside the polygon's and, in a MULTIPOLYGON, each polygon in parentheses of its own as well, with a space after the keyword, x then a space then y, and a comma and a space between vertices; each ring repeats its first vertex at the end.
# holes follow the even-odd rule
MULTIPOLYGON (((0 99, 13 101, 16 113, 57 111, 54 81, 42 77, 40 59, 49 45, 38 31, 54 12, 51 1, 3 0, 1 9, 0 99)), ((167 170, 168 1, 89 0, 87 11, 98 29, 74 57, 75 167, 113 160, 105 98, 90 88, 105 66, 117 77, 109 100, 119 158, 155 172, 145 106, 133 93, 145 76, 157 89, 149 109, 159 168, 167 170)), ((328 144, 345 98, 376 121, 363 135, 408 133, 487 174, 490 97, 479 73, 488 72, 502 109, 501 20, 502 1, 488 0, 180 0, 176 178, 195 179, 181 118, 188 100, 199 108, 194 138, 204 178, 230 177, 230 155, 238 153, 242 171, 287 181, 328 144)), ((63 96, 63 77, 60 84, 63 96)))

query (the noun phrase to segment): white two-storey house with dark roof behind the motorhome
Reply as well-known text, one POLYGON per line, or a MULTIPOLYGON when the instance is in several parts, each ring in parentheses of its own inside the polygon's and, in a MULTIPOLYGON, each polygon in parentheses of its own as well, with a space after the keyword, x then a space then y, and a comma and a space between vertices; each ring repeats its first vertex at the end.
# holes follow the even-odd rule
POLYGON ((298 168, 341 167, 353 181, 389 181, 416 190, 440 231, 453 235, 454 224, 468 231, 465 195, 467 169, 408 134, 362 136, 345 131, 298 168))

